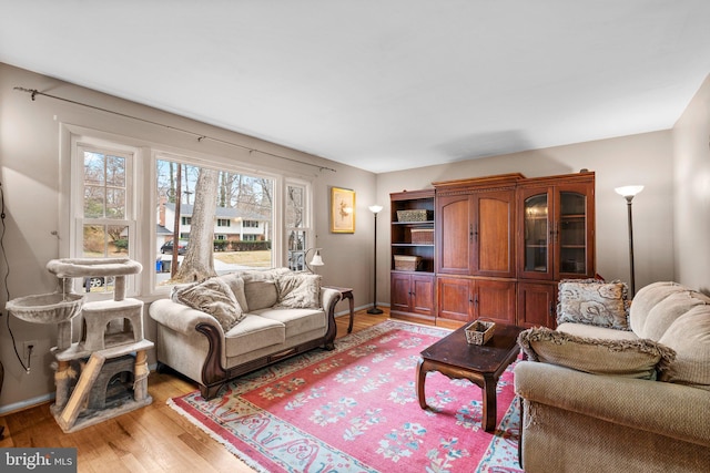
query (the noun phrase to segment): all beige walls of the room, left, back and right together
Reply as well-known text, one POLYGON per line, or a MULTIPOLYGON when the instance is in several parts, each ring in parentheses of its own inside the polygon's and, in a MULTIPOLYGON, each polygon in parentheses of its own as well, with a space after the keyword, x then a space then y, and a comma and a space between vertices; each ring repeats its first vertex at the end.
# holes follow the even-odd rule
MULTIPOLYGON (((710 287, 707 271, 710 266, 709 96, 710 84, 706 81, 672 132, 661 131, 375 175, 0 63, 0 182, 7 213, 4 256, 10 269, 7 289, 10 298, 53 290, 54 280, 45 270, 47 261, 67 256, 60 251, 64 236, 61 233, 58 237, 52 235, 52 232, 65 226, 65 216, 58 212, 62 197, 59 177, 61 123, 109 131, 136 143, 161 143, 173 150, 225 156, 240 162, 253 161, 258 167, 312 178, 317 246, 323 247, 326 264, 318 268, 318 274, 324 276, 325 284, 354 288, 357 307, 372 304, 374 219, 367 209, 369 205, 379 203, 385 206, 378 219, 377 296, 382 304, 388 304, 389 193, 425 188, 435 181, 509 172, 520 172, 529 177, 574 173, 580 168, 596 172, 597 268, 607 279, 627 280, 629 275, 626 202, 613 192, 613 187, 643 184, 645 191, 633 200, 637 288, 655 280, 677 277, 684 284, 707 289, 710 287), (38 89, 201 132, 267 153, 321 164, 336 172, 318 172, 266 154, 250 155, 214 143, 197 143, 190 135, 52 99, 39 96, 32 102, 28 94, 13 91, 14 86, 38 89), (673 154, 677 157, 676 166, 673 154), (676 194, 673 172, 677 175, 676 194), (356 192, 356 232, 353 235, 329 233, 331 186, 356 192), (678 241, 676 253, 673 238, 678 241)), ((4 270, 7 267, 0 258, 0 275, 4 275, 4 270)), ((0 290, 2 307, 6 299, 6 291, 0 290)), ((344 311, 345 306, 341 302, 338 311, 344 311)), ((7 312, 3 311, 2 317, 7 317, 7 312)), ((32 372, 26 374, 14 357, 6 320, 0 320, 0 357, 6 370, 0 413, 47 400, 54 390, 52 370, 49 368, 52 361, 49 348, 55 342, 55 329, 22 322, 14 317, 10 318, 10 323, 18 349, 22 341, 40 340, 44 356, 34 363, 32 372)), ((153 333, 154 327, 146 317, 146 337, 151 339, 153 333)), ((152 354, 150 362, 154 362, 152 354)))

